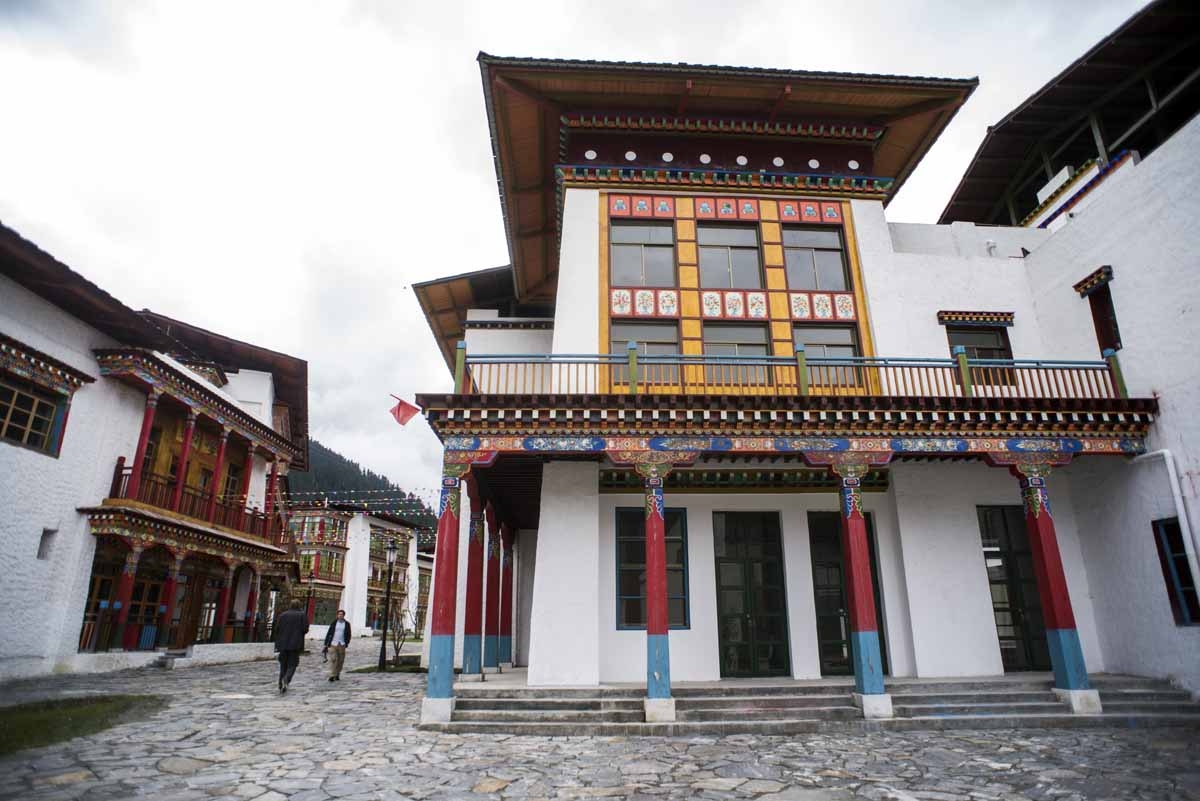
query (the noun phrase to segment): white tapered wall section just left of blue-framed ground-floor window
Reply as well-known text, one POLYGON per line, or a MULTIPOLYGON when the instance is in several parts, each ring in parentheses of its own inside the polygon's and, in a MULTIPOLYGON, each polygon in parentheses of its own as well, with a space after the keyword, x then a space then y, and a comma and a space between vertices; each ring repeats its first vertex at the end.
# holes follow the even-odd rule
POLYGON ((550 462, 542 471, 530 685, 600 681, 599 477, 595 462, 550 462))

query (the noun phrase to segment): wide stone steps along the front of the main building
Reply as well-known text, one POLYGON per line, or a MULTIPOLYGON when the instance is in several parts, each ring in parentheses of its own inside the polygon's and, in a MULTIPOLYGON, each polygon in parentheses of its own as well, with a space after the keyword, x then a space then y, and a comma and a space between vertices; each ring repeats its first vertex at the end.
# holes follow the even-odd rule
POLYGON ((439 731, 530 735, 802 734, 1021 727, 1200 727, 1200 703, 1165 681, 1094 676, 1104 713, 1072 715, 1049 679, 1004 677, 889 682, 895 717, 864 721, 845 681, 732 683, 674 688, 676 722, 646 723, 640 687, 456 687, 450 723, 439 731))

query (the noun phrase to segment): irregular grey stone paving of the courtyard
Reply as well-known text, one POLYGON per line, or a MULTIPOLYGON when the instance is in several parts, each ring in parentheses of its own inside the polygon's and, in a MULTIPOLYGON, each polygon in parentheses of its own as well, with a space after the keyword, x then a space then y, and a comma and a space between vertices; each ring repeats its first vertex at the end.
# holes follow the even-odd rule
MULTIPOLYGON (((377 654, 356 643, 348 667, 377 654)), ((148 719, 0 759, 0 797, 1200 800, 1195 730, 460 736, 414 728, 419 674, 330 683, 311 654, 286 697, 275 676, 259 662, 0 686, 2 704, 106 692, 169 701, 148 719)))

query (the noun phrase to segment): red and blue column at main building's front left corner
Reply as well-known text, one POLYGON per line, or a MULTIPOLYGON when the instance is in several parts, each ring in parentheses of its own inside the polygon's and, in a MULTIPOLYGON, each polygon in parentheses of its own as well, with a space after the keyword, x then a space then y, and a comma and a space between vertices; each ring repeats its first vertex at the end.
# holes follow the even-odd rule
POLYGON ((430 610, 430 668, 421 722, 445 723, 454 711, 454 636, 458 595, 458 507, 469 466, 446 464, 438 502, 438 541, 430 610))

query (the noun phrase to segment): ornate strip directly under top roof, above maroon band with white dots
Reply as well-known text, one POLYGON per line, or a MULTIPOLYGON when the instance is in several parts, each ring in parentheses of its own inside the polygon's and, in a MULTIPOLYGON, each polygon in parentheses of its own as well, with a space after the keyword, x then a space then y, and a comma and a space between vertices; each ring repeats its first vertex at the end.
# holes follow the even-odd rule
POLYGON ((752 134, 793 137, 804 139, 834 139, 875 143, 886 128, 874 125, 840 125, 835 122, 796 122, 748 120, 718 116, 676 116, 664 114, 625 114, 571 112, 562 116, 565 128, 620 130, 682 133, 752 134))

